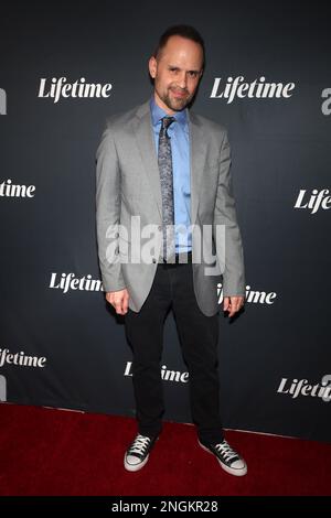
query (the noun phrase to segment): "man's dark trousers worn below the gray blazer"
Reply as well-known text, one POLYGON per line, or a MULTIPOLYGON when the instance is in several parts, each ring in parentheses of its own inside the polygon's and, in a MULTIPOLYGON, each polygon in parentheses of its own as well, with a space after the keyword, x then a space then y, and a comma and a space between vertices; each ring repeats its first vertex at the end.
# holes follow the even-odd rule
POLYGON ((161 357, 163 325, 174 313, 183 358, 189 370, 192 420, 201 441, 221 442, 217 370, 218 313, 200 310, 193 288, 192 263, 159 263, 152 288, 139 313, 125 315, 126 335, 134 353, 132 382, 138 431, 158 435, 164 413, 161 357))

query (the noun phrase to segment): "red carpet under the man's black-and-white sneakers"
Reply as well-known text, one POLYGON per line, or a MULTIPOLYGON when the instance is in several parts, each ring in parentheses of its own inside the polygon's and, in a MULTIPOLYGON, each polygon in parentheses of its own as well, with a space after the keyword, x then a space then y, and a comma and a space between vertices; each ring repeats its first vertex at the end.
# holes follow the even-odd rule
POLYGON ((0 404, 0 495, 330 495, 329 444, 226 432, 248 474, 226 474, 195 429, 164 423, 148 464, 122 465, 134 419, 0 404))

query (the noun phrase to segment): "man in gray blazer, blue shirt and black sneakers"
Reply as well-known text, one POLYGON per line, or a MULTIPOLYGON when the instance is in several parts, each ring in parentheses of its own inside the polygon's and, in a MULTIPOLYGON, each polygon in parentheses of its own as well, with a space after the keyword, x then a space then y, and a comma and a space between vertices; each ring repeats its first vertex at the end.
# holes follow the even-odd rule
POLYGON ((223 307, 235 315, 244 305, 244 256, 226 129, 188 109, 203 68, 197 31, 169 28, 149 60, 150 99, 108 119, 97 150, 98 255, 106 299, 125 315, 134 354, 138 434, 125 467, 140 470, 161 432, 162 332, 172 309, 199 443, 241 476, 247 466, 225 441, 218 409, 216 287, 223 276, 223 307))

